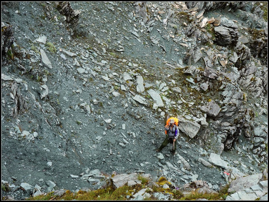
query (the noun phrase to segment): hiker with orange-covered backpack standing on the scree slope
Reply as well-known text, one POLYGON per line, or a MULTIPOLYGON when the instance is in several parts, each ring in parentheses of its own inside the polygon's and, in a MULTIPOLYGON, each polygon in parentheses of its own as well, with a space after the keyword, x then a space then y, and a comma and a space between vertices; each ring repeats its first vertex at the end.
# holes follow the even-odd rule
POLYGON ((156 152, 160 152, 164 147, 167 146, 168 143, 173 144, 173 142, 174 142, 174 147, 172 149, 172 155, 175 155, 176 154, 176 140, 178 139, 178 136, 179 136, 179 130, 178 130, 178 126, 175 124, 174 119, 172 119, 172 118, 170 119, 168 124, 165 126, 165 131, 166 131, 165 140, 163 141, 161 146, 156 150, 156 152))

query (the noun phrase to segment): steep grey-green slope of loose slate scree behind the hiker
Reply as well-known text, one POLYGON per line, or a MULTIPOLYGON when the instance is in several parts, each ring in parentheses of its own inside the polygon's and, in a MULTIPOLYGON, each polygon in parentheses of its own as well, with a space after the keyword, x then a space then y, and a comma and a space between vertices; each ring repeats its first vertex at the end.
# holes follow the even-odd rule
POLYGON ((1 25, 13 35, 2 37, 2 53, 13 57, 1 71, 2 196, 98 189, 113 172, 218 191, 267 167, 267 63, 256 58, 264 53, 235 42, 248 24, 231 13, 215 27, 229 39, 216 33, 214 43, 205 27, 218 10, 203 21, 187 5, 71 2, 68 19, 55 2, 3 5, 1 25), (156 152, 167 115, 180 120, 175 156, 170 144, 156 152))

